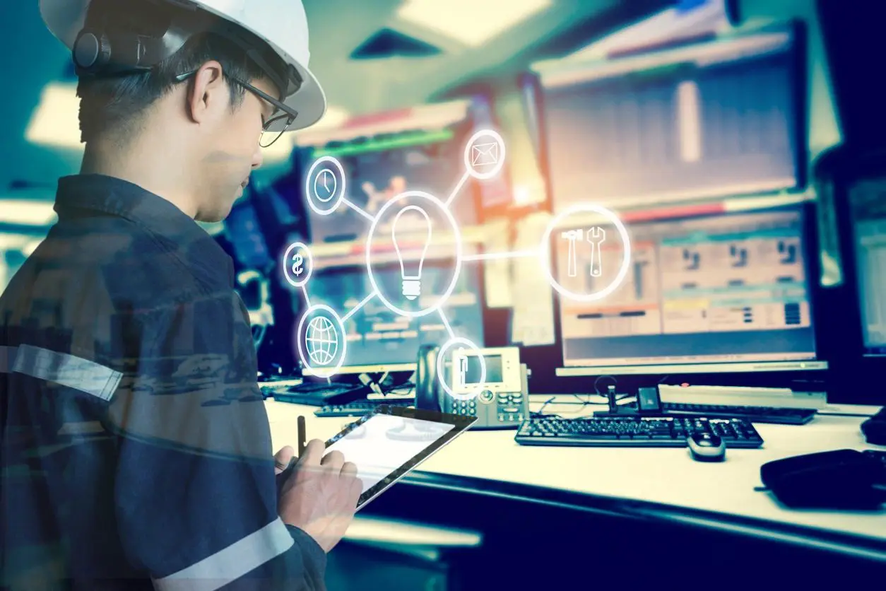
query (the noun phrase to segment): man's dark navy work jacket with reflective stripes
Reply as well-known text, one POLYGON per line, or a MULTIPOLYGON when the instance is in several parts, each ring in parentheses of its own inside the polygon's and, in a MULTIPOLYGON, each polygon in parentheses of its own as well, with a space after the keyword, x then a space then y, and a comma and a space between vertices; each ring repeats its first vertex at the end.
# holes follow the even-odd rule
POLYGON ((62 178, 0 296, 0 587, 318 589, 277 516, 248 313, 167 200, 62 178))

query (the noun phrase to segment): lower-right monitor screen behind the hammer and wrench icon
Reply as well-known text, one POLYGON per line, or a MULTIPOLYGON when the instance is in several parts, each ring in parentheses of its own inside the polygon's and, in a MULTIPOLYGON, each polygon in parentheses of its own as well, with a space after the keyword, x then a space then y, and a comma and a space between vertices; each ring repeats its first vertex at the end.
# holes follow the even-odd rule
MULTIPOLYGON (((827 369, 816 358, 807 207, 628 223, 630 271, 618 289, 560 299, 557 375, 827 369)), ((553 245, 558 276, 567 247, 553 245)), ((578 249, 571 281, 595 280, 591 256, 578 249)))

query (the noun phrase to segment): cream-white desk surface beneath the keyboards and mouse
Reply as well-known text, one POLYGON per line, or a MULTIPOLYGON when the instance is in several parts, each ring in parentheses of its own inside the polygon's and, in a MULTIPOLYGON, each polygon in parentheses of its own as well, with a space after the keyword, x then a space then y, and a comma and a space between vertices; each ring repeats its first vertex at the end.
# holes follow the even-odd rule
MULTIPOLYGON (((348 417, 318 418, 315 407, 272 400, 267 407, 275 449, 296 447, 299 415, 306 417, 308 439, 328 439, 354 421, 348 417)), ((549 404, 546 410, 570 416, 576 407, 563 410, 549 404)), ((865 442, 859 431, 863 420, 859 416, 817 416, 805 425, 755 424, 765 440, 764 447, 729 449, 723 463, 696 462, 685 448, 526 447, 514 441, 513 430, 466 432, 432 455, 420 470, 701 509, 724 517, 750 517, 886 543, 886 509, 857 513, 786 509, 770 494, 754 490, 761 485, 760 466, 772 460, 839 448, 883 449, 865 442)))

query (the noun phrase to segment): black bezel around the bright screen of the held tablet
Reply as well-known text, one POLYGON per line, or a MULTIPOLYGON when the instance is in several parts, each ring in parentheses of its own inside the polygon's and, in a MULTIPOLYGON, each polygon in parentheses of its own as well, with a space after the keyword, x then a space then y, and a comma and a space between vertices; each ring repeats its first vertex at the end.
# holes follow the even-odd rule
MULTIPOLYGON (((417 455, 411 457, 406 463, 400 465, 399 468, 393 470, 390 474, 385 476, 378 481, 376 486, 373 486, 365 493, 360 495, 360 500, 357 502, 357 510, 363 508, 369 501, 372 501, 379 494, 382 494, 385 489, 389 486, 397 482, 400 478, 403 478, 408 474, 408 472, 416 467, 419 463, 424 462, 424 460, 431 457, 437 453, 437 451, 447 445, 450 441, 458 437, 465 432, 471 424, 474 424, 477 421, 476 416, 464 416, 464 415, 454 415, 451 413, 442 413, 436 410, 429 410, 427 408, 409 408, 409 407, 390 407, 387 405, 379 405, 377 408, 374 408, 371 412, 366 415, 361 416, 354 423, 349 424, 343 429, 341 432, 338 432, 331 439, 326 442, 326 447, 329 448, 332 444, 334 444, 338 439, 342 439, 348 433, 354 431, 354 429, 360 427, 362 424, 366 423, 373 416, 377 415, 389 415, 389 416, 401 416, 403 418, 413 418, 419 421, 431 421, 432 423, 439 424, 451 424, 453 428, 443 434, 439 439, 435 439, 430 446, 425 447, 424 450, 417 455)), ((347 458, 345 458, 347 461, 347 458)))

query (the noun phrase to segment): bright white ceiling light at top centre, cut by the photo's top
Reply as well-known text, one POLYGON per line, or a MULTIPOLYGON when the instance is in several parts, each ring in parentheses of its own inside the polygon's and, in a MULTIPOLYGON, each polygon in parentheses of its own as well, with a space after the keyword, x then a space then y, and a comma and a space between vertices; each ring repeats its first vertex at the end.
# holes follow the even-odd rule
POLYGON ((405 0, 397 16, 478 47, 551 4, 551 0, 405 0))

